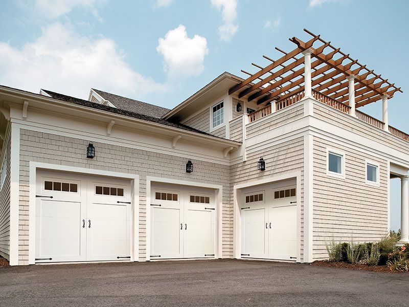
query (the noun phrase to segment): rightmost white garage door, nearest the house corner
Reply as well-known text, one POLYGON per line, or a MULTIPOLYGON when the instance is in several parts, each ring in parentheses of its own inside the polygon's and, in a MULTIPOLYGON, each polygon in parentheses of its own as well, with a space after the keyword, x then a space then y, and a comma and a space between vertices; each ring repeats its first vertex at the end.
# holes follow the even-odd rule
POLYGON ((244 194, 241 205, 241 256, 297 259, 296 189, 244 194))

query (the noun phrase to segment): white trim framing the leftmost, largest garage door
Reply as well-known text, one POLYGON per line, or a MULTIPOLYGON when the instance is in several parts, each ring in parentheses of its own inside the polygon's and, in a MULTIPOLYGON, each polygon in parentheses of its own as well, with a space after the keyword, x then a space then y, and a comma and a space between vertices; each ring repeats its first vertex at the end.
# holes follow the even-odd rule
POLYGON ((65 166, 65 165, 55 165, 49 163, 40 163, 40 162, 30 162, 30 173, 29 173, 29 264, 35 264, 35 229, 36 229, 36 173, 37 170, 44 171, 61 171, 67 173, 77 173, 81 176, 104 176, 112 179, 128 179, 131 180, 131 259, 130 261, 138 261, 139 259, 139 242, 138 235, 139 233, 139 175, 113 172, 113 171, 104 171, 97 169, 89 169, 82 167, 74 166, 65 166))

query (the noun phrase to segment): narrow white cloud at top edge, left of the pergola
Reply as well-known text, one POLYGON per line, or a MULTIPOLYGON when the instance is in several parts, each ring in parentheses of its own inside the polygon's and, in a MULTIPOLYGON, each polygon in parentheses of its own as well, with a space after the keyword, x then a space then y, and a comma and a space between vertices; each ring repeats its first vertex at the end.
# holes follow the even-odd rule
POLYGON ((219 27, 219 38, 230 41, 239 29, 237 24, 237 0, 211 0, 212 5, 221 11, 223 24, 219 27))

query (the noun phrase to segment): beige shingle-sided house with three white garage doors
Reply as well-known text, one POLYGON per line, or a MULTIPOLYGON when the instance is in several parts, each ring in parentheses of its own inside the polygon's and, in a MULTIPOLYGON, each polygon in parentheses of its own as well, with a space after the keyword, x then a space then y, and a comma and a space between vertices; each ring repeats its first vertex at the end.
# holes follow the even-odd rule
POLYGON ((11 265, 171 258, 308 263, 328 257, 331 238, 374 242, 387 234, 396 177, 402 240, 409 240, 408 135, 315 94, 285 107, 269 104, 264 114, 248 95, 229 94, 241 82, 223 73, 172 110, 94 89, 84 101, 0 86, 0 255, 11 265), (126 103, 141 109, 130 111, 126 103), (90 142, 93 158, 86 156, 90 142), (265 170, 258 169, 260 157, 265 170), (98 182, 111 190, 99 193, 98 182), (78 216, 71 208, 79 208, 78 216), (124 215, 115 220, 116 214, 124 215), (172 214, 175 220, 167 220, 172 214), (110 238, 115 230, 105 233, 104 225, 118 228, 118 237, 110 238), (78 252, 54 256, 56 244, 78 252), (128 252, 112 258, 117 245, 128 252))

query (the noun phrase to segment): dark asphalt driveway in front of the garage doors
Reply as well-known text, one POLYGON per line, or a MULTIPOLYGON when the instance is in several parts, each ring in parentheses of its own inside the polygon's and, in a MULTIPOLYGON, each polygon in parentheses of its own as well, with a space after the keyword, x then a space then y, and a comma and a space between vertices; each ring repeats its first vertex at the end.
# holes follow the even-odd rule
POLYGON ((245 260, 0 268, 2 306, 407 306, 409 274, 245 260))

